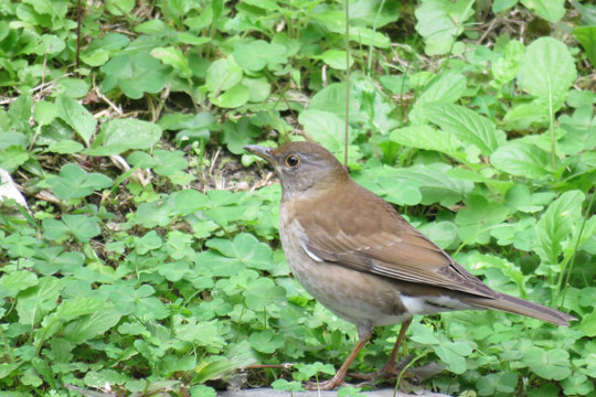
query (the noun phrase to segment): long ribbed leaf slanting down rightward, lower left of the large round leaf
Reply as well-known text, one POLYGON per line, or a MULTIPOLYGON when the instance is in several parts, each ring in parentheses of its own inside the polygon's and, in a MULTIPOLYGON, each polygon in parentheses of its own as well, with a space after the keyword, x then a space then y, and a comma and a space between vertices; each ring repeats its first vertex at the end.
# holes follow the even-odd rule
POLYGON ((445 132, 465 144, 475 144, 485 155, 490 155, 505 142, 504 133, 498 131, 491 120, 462 106, 432 103, 424 106, 424 112, 445 132))

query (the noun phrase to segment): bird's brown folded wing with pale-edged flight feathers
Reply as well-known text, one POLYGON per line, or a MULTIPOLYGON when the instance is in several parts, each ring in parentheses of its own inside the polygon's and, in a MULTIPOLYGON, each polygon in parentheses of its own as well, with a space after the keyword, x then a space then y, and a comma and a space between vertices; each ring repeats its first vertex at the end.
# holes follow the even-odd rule
MULTIPOLYGON (((385 225, 385 229, 363 227, 364 230, 349 227, 350 221, 344 222, 343 226, 347 227, 342 227, 343 217, 340 214, 318 217, 311 212, 310 215, 302 219, 308 223, 308 236, 305 236, 302 247, 309 255, 397 280, 487 298, 498 296, 396 213, 368 214, 368 222, 373 223, 380 221, 375 219, 377 216, 391 215, 395 217, 395 226, 387 229, 386 222, 379 222, 385 225), (321 218, 333 221, 326 223, 321 218), (371 233, 371 229, 374 232, 371 233)), ((362 222, 362 218, 351 219, 350 224, 362 222)))

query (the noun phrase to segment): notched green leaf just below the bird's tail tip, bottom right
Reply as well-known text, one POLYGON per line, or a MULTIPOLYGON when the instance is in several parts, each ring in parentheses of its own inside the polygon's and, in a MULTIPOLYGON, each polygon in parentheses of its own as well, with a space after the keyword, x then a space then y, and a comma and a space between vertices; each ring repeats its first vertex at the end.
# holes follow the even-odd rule
POLYGON ((572 374, 570 354, 562 348, 530 347, 522 361, 544 379, 563 380, 572 374))

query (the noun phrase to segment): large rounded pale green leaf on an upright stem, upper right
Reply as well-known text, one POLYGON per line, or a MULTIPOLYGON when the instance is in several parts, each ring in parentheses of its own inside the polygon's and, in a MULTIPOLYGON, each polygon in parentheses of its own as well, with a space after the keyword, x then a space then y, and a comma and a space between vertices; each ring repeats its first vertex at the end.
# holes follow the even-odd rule
POLYGON ((567 46, 552 37, 538 39, 528 46, 518 73, 520 86, 552 104, 553 111, 561 108, 576 77, 567 46))

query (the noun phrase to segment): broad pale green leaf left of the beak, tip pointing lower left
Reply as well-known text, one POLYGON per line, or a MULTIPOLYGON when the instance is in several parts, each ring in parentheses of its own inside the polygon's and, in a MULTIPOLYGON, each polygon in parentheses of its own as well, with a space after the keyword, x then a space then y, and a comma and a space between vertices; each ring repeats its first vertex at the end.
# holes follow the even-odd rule
POLYGON ((150 149, 161 138, 161 128, 137 119, 114 119, 102 125, 91 149, 91 155, 120 154, 131 149, 150 149))

